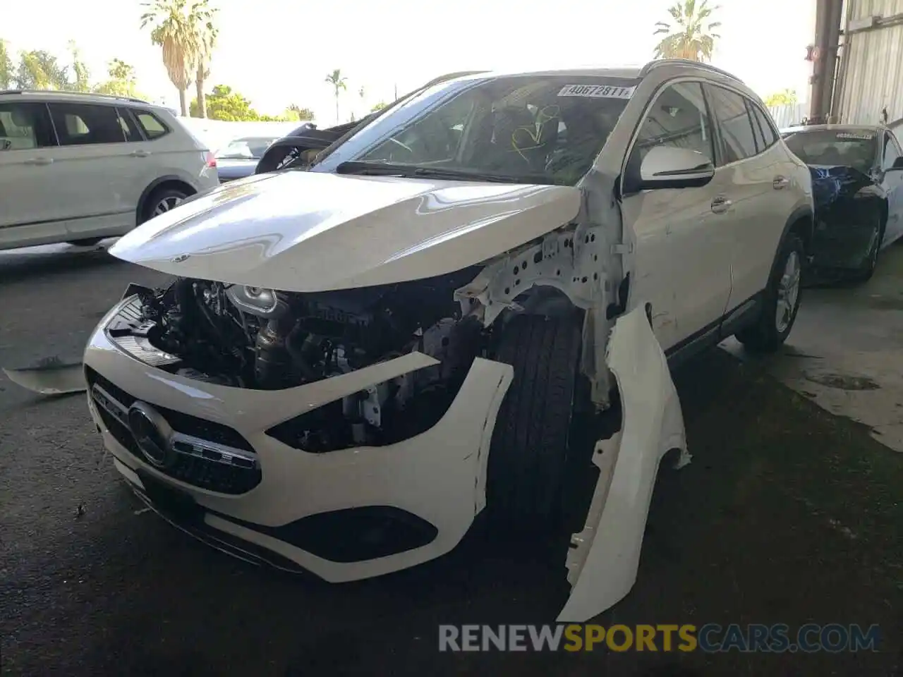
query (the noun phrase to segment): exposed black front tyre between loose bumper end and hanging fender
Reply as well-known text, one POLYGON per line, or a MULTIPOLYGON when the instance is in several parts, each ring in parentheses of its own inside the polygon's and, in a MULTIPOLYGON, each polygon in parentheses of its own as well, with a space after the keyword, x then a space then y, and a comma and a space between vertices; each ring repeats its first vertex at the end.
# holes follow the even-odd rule
POLYGON ((496 358, 514 380, 492 435, 487 509, 510 531, 549 529, 561 515, 581 329, 576 314, 519 315, 503 329, 496 358))

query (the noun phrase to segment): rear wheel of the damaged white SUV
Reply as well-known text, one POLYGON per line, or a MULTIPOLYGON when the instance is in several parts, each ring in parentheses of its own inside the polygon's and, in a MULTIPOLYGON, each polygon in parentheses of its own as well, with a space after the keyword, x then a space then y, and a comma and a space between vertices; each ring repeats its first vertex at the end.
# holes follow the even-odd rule
POLYGON ((787 340, 799 311, 804 260, 802 240, 790 233, 777 252, 777 265, 765 290, 759 320, 737 333, 737 340, 745 348, 753 352, 773 352, 787 340))

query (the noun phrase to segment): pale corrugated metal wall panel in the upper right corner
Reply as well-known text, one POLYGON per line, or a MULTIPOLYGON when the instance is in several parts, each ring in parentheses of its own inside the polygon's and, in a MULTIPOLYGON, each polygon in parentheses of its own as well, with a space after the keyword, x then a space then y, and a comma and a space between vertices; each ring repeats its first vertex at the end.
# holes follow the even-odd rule
MULTIPOLYGON (((903 14, 903 0, 847 0, 845 5, 844 15, 851 20, 903 14)), ((885 107, 889 122, 903 118, 903 23, 853 32, 847 39, 835 92, 841 122, 877 125, 885 107)))

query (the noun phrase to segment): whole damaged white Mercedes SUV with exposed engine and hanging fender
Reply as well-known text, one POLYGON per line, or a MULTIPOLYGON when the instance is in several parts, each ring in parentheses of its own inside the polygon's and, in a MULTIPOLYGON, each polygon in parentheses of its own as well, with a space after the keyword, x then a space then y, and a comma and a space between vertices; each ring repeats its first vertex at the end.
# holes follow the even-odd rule
POLYGON ((329 581, 449 552, 484 507, 554 524, 577 457, 582 621, 627 594, 659 461, 686 459, 668 361, 787 338, 809 177, 701 64, 446 79, 123 237, 176 278, 101 320, 90 410, 159 513, 329 581), (573 413, 615 393, 619 431, 577 449, 573 413))

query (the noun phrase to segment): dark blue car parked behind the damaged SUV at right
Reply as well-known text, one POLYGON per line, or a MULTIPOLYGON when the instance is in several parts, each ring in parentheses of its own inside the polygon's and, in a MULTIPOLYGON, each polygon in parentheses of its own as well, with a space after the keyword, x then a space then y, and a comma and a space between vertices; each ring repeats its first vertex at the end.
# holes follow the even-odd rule
POLYGON ((869 279, 883 247, 903 236, 903 151, 883 126, 811 125, 781 131, 809 165, 815 269, 869 279))

